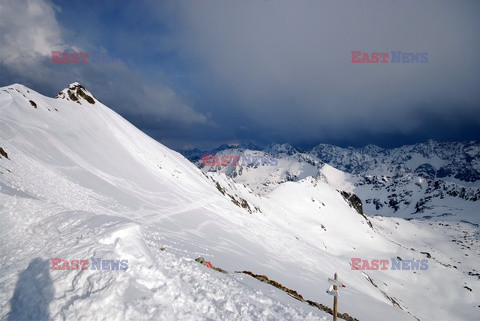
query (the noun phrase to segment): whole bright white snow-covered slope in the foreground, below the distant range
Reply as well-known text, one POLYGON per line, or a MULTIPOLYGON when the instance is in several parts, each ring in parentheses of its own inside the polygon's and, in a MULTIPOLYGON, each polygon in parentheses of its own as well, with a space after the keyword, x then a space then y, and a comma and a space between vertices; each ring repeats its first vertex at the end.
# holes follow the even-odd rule
POLYGON ((338 272, 347 284, 339 310, 359 320, 480 312, 476 227, 375 217, 371 228, 309 176, 257 195, 224 174, 204 175, 78 84, 69 89, 52 99, 0 88, 2 319, 330 318, 234 273, 242 270, 325 305, 327 277, 338 272), (350 267, 352 257, 424 259, 420 252, 431 256, 428 270, 350 267), (125 259, 128 270, 57 271, 51 258, 125 259))

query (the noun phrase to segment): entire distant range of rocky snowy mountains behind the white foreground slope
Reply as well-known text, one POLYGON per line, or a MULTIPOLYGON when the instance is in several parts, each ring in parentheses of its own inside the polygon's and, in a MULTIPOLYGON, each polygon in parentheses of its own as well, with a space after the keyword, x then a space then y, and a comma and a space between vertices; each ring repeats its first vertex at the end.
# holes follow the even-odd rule
POLYGON ((217 153, 225 154, 264 155, 278 159, 280 165, 195 163, 204 171, 224 172, 258 193, 314 176, 357 194, 369 214, 480 223, 480 142, 428 141, 391 150, 322 144, 306 152, 289 144, 272 144, 263 151, 229 147, 217 153))

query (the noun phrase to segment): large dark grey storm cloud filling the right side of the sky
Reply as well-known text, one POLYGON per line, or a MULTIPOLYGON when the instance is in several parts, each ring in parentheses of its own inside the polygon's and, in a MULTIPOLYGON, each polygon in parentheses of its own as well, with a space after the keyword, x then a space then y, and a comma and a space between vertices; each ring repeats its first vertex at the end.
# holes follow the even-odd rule
POLYGON ((184 51, 205 67, 205 90, 228 95, 267 139, 355 143, 433 134, 450 122, 479 126, 479 8, 441 1, 189 2, 184 51), (427 52, 429 60, 352 64, 352 50, 427 52))

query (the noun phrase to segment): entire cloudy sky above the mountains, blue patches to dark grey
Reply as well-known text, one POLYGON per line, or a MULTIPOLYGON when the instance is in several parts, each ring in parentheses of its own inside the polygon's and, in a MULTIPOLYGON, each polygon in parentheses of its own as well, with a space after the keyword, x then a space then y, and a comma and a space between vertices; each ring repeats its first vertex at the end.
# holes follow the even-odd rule
POLYGON ((175 149, 480 139, 479 1, 0 3, 0 86, 55 96, 78 81, 175 149), (352 63, 352 51, 390 57, 352 63))

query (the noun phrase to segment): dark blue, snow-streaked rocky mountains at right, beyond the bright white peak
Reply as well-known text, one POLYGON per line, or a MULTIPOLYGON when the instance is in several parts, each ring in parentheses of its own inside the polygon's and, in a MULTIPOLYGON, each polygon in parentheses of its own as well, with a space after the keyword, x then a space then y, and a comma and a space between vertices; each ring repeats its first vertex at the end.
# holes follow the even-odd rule
POLYGON ((369 213, 480 223, 480 142, 385 150, 318 145, 311 155, 351 175, 369 213))

